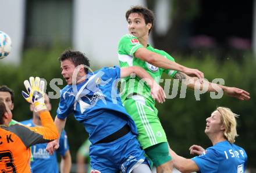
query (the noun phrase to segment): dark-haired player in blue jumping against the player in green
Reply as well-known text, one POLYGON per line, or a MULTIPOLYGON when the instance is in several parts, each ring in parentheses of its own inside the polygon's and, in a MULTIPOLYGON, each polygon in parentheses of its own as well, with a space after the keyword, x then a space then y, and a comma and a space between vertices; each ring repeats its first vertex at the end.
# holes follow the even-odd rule
MULTIPOLYGON (((163 102, 163 89, 140 67, 105 67, 89 72, 89 60, 78 51, 66 51, 61 57, 62 75, 67 85, 55 118, 61 132, 66 117, 74 113, 77 121, 89 134, 91 170, 93 172, 151 172, 148 161, 136 139, 137 129, 127 114, 118 93, 120 78, 135 73, 147 79, 151 95, 163 102)), ((48 144, 49 153, 58 147, 56 141, 48 144)))

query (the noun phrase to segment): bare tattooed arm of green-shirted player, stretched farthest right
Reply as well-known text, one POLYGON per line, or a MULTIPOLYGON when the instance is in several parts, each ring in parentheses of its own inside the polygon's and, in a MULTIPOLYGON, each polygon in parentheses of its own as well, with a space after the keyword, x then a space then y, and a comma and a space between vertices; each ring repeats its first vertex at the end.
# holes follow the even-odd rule
POLYGON ((235 87, 226 87, 219 84, 214 84, 212 82, 208 82, 206 80, 203 80, 201 83, 198 81, 197 77, 190 77, 189 75, 186 75, 182 72, 177 72, 174 76, 175 79, 178 79, 180 82, 183 82, 187 85, 190 89, 207 89, 207 92, 221 92, 223 91, 226 95, 237 98, 239 100, 249 100, 250 99, 250 93, 247 91, 244 91, 240 88, 235 87))

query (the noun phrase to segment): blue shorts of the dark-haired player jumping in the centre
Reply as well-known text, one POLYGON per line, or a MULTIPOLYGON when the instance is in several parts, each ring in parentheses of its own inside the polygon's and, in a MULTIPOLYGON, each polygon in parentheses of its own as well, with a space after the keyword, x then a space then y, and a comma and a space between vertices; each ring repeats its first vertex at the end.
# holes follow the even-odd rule
POLYGON ((131 172, 141 163, 149 165, 135 135, 129 132, 109 143, 90 146, 91 172, 131 172))

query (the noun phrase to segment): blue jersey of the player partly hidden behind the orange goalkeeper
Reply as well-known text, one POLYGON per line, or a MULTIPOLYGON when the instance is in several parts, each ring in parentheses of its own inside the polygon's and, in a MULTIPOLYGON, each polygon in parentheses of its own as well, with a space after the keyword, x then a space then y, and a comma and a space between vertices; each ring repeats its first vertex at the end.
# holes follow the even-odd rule
MULTIPOLYGON (((22 121, 22 124, 29 127, 35 127, 32 119, 22 121)), ((50 155, 45 149, 47 143, 39 143, 31 146, 31 153, 34 157, 34 161, 31 161, 31 170, 33 173, 39 172, 59 172, 58 161, 56 152, 64 156, 66 151, 69 150, 69 143, 67 142, 66 132, 63 131, 59 139, 59 149, 50 155)))

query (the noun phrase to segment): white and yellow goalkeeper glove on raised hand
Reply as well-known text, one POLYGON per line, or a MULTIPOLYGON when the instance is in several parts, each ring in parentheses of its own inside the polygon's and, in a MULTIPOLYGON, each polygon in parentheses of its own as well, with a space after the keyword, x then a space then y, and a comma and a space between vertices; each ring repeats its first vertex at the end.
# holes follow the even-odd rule
POLYGON ((24 81, 27 92, 22 91, 22 96, 27 102, 34 104, 34 111, 47 110, 44 104, 44 81, 39 77, 30 77, 29 81, 24 81))

